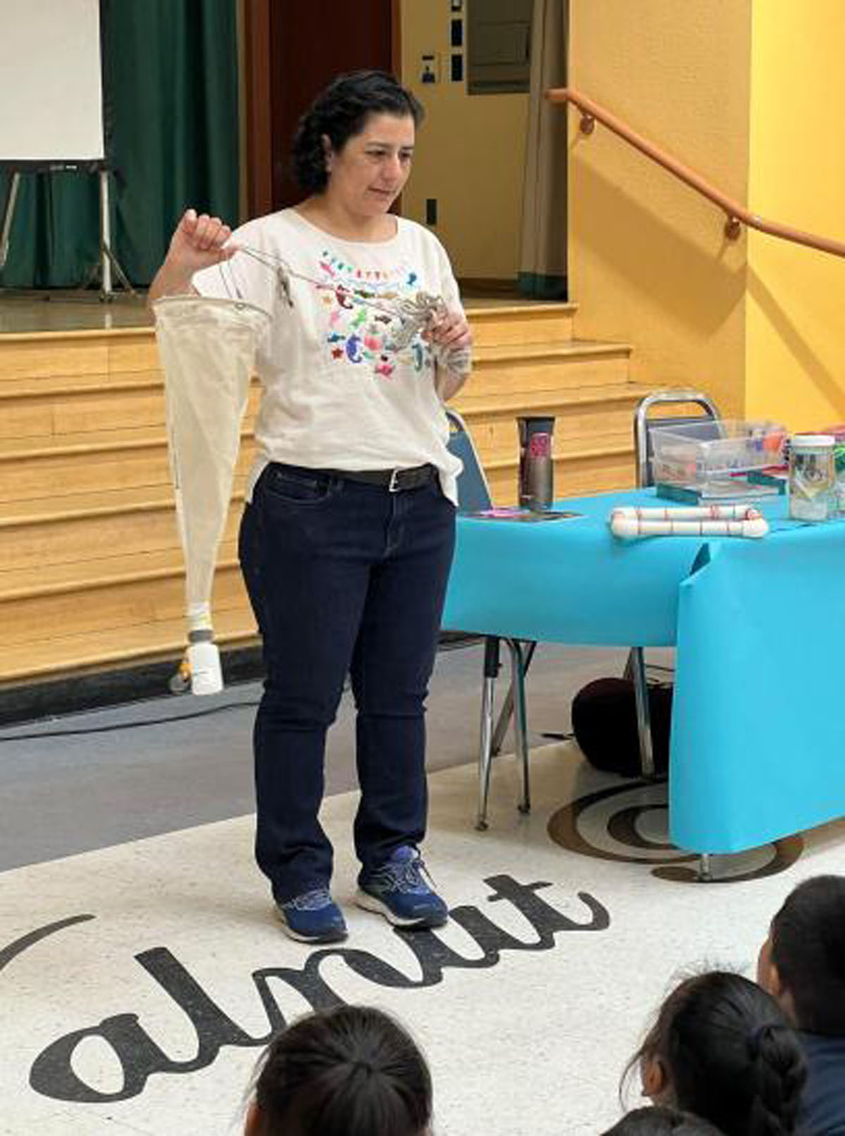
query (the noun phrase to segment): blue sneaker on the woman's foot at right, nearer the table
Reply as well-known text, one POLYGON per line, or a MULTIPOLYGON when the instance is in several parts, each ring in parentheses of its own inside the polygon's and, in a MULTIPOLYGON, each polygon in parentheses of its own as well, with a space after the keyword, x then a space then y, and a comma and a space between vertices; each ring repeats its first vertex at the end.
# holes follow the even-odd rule
POLYGON ((394 927, 442 927, 449 908, 426 876, 419 852, 405 844, 378 868, 361 872, 355 903, 365 911, 377 911, 394 927))

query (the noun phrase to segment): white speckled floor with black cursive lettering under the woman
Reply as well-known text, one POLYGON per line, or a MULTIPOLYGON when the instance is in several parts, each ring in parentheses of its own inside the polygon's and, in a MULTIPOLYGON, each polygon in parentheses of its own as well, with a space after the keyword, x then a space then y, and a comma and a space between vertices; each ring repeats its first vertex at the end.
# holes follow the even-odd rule
POLYGON ((349 907, 354 792, 325 804, 350 922, 337 947, 282 936, 249 816, 0 875, 0 1131, 239 1133, 268 1010, 332 996, 384 1006, 421 1041, 436 1136, 601 1131, 672 977, 750 969, 793 884, 843 870, 845 822, 804 834, 775 874, 765 849, 717 864, 745 880, 669 880, 654 874, 674 857, 661 786, 597 774, 571 744, 536 749, 533 775, 520 817, 514 762, 496 762, 485 834, 474 767, 432 775, 427 858, 453 920, 411 939, 349 907), (636 840, 620 843, 610 821, 631 808, 636 840))

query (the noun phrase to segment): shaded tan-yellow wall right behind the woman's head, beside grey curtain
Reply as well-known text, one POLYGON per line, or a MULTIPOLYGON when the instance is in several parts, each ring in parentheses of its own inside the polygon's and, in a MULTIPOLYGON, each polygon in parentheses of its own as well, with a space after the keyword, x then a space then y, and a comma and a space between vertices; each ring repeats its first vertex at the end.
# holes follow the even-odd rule
POLYGON ((413 173, 402 194, 405 217, 425 223, 426 198, 438 202, 434 232, 455 274, 516 277, 522 207, 527 94, 467 94, 449 77, 449 0, 403 0, 402 81, 426 109, 413 173), (437 52, 440 83, 420 83, 420 57, 437 52))

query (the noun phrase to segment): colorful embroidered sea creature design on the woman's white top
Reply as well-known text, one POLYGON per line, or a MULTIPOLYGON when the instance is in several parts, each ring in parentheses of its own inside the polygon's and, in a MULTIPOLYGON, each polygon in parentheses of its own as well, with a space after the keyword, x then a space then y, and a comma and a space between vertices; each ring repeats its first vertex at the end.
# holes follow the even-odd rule
POLYGON ((390 273, 365 269, 326 249, 317 258, 315 275, 324 282, 325 342, 334 364, 362 366, 380 379, 394 378, 400 365, 417 375, 430 374, 432 349, 421 335, 402 350, 393 344, 400 320, 390 309, 419 291, 419 274, 412 267, 399 264, 390 273))

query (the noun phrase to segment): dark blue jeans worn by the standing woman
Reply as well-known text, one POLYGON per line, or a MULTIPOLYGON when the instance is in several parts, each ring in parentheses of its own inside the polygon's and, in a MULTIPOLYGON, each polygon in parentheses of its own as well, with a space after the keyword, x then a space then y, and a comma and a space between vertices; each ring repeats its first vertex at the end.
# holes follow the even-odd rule
POLYGON ((317 813, 326 730, 352 678, 362 871, 425 836, 425 699, 454 548, 434 481, 391 493, 273 463, 241 523, 240 559, 263 638, 256 718, 256 858, 285 902, 332 876, 317 813))

